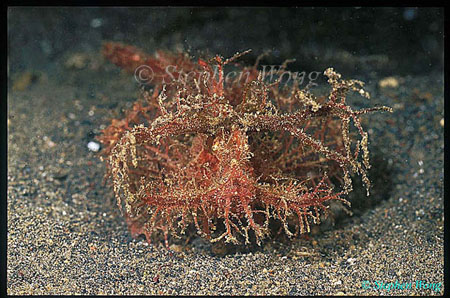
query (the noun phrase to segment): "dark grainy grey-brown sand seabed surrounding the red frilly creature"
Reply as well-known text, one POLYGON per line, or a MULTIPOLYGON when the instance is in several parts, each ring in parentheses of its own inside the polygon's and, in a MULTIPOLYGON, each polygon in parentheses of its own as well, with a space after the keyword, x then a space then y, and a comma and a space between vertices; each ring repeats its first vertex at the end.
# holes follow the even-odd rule
POLYGON ((64 65, 74 54, 67 49, 58 75, 37 72, 29 83, 26 73, 11 75, 8 294, 443 294, 443 285, 416 287, 444 279, 442 71, 392 72, 399 85, 387 88, 375 73, 369 103, 349 100, 395 110, 365 116, 373 187, 370 197, 355 191, 353 216, 261 248, 233 250, 194 236, 169 252, 130 238, 102 184, 104 164, 87 148, 138 94, 132 76, 96 51, 80 52, 84 64, 64 65), (376 289, 375 281, 413 284, 376 289))

